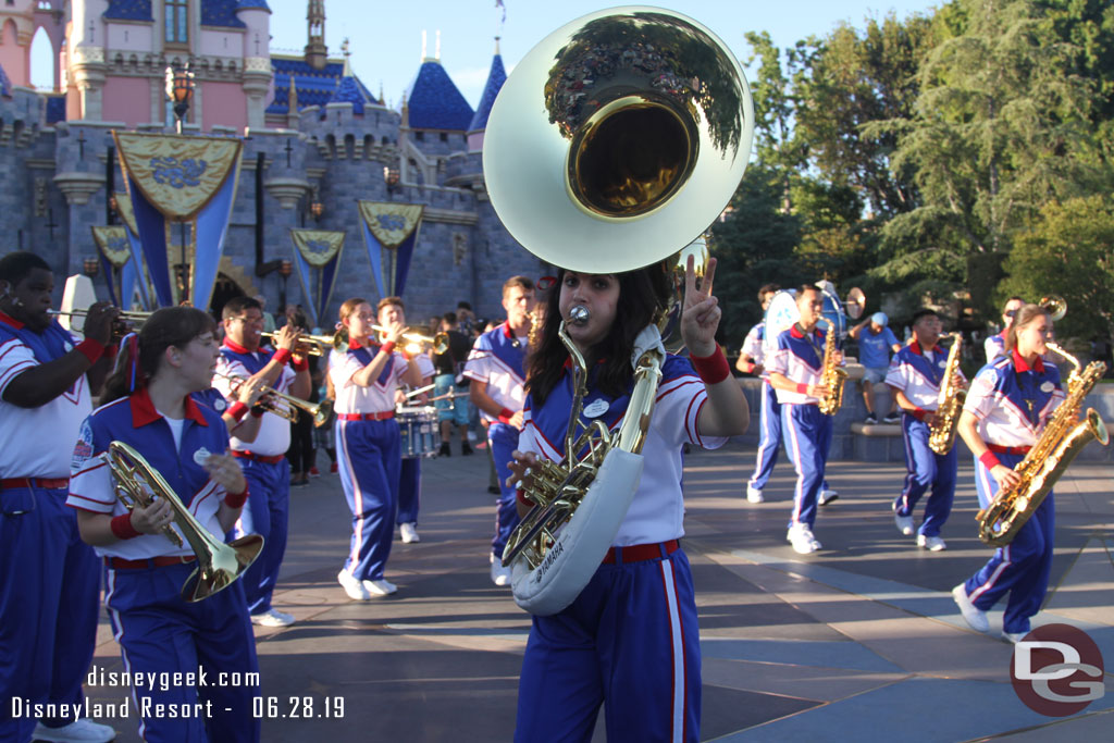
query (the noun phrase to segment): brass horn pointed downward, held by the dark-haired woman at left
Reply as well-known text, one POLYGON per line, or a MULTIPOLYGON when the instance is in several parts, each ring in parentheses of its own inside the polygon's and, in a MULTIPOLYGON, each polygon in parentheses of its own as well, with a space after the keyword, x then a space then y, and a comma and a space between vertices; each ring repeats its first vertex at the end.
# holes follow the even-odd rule
MULTIPOLYGON (((224 544, 197 521, 158 470, 128 444, 113 441, 102 457, 113 472, 116 497, 127 506, 128 510, 136 507, 146 508, 155 498, 162 498, 170 504, 175 526, 197 556, 197 569, 182 586, 183 600, 199 602, 231 586, 258 557, 260 550, 263 549, 263 537, 250 534, 231 544, 224 544)), ((164 527, 163 534, 176 547, 182 547, 182 536, 169 525, 164 527)))

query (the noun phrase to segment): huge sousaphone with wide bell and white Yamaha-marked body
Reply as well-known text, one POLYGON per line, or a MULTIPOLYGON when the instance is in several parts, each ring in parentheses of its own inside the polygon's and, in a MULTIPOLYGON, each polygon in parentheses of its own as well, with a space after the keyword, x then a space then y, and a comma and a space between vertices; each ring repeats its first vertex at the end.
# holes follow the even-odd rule
MULTIPOLYGON (((723 41, 680 13, 614 8, 557 29, 515 67, 488 119, 483 174, 527 251, 570 271, 620 273, 675 255, 719 218, 753 134, 750 88, 723 41)), ((580 390, 586 370, 566 322, 576 317, 560 334, 580 390)), ((532 614, 576 598, 634 498, 664 360, 658 327, 636 345, 619 430, 586 423, 574 404, 564 459, 531 473, 537 506, 502 558, 515 600, 532 614)))

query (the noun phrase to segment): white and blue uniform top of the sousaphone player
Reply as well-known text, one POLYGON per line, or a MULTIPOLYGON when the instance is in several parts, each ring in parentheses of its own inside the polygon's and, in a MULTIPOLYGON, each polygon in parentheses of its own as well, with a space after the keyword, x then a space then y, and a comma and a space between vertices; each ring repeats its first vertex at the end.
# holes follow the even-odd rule
MULTIPOLYGON (((657 389, 657 402, 649 420, 649 430, 642 449, 644 469, 634 500, 612 542, 618 547, 680 539, 684 536, 684 499, 681 490, 683 466, 681 447, 688 442, 705 449, 719 449, 726 439, 701 436, 697 421, 707 401, 704 382, 693 372, 687 359, 668 356, 663 366, 663 381, 657 389)), ((564 431, 568 424, 570 388, 567 375, 539 411, 525 409, 524 426, 518 438, 520 451, 532 451, 546 459, 559 461, 564 449, 564 431), (535 419, 534 416, 538 416, 535 419), (548 431, 548 433, 547 433, 548 431), (560 450, 558 450, 560 447, 560 450)), ((585 410, 590 410, 585 398, 585 410)), ((608 412, 599 416, 613 431, 623 416, 612 420, 608 412)), ((583 420, 584 419, 582 417, 583 420)))

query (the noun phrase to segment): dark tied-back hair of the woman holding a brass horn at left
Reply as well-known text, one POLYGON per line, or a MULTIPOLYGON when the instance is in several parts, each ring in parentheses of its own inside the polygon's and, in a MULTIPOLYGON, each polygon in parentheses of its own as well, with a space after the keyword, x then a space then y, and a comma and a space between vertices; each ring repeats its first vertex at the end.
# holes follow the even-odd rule
POLYGON ((135 343, 125 343, 116 359, 116 369, 105 380, 100 404, 126 398, 136 390, 147 387, 147 382, 158 371, 168 348, 172 345, 185 348, 198 335, 212 333, 215 329, 216 322, 213 317, 196 307, 157 310, 144 322, 135 343))

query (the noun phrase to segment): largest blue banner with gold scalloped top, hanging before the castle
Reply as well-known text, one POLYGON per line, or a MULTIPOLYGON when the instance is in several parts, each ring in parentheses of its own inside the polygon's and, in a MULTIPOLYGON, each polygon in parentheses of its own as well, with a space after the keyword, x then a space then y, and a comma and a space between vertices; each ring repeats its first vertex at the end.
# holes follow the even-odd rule
POLYGON ((240 182, 243 143, 124 131, 113 136, 158 306, 188 302, 208 309, 240 182), (188 282, 183 281, 186 272, 188 282), (182 291, 183 283, 188 293, 182 291))

